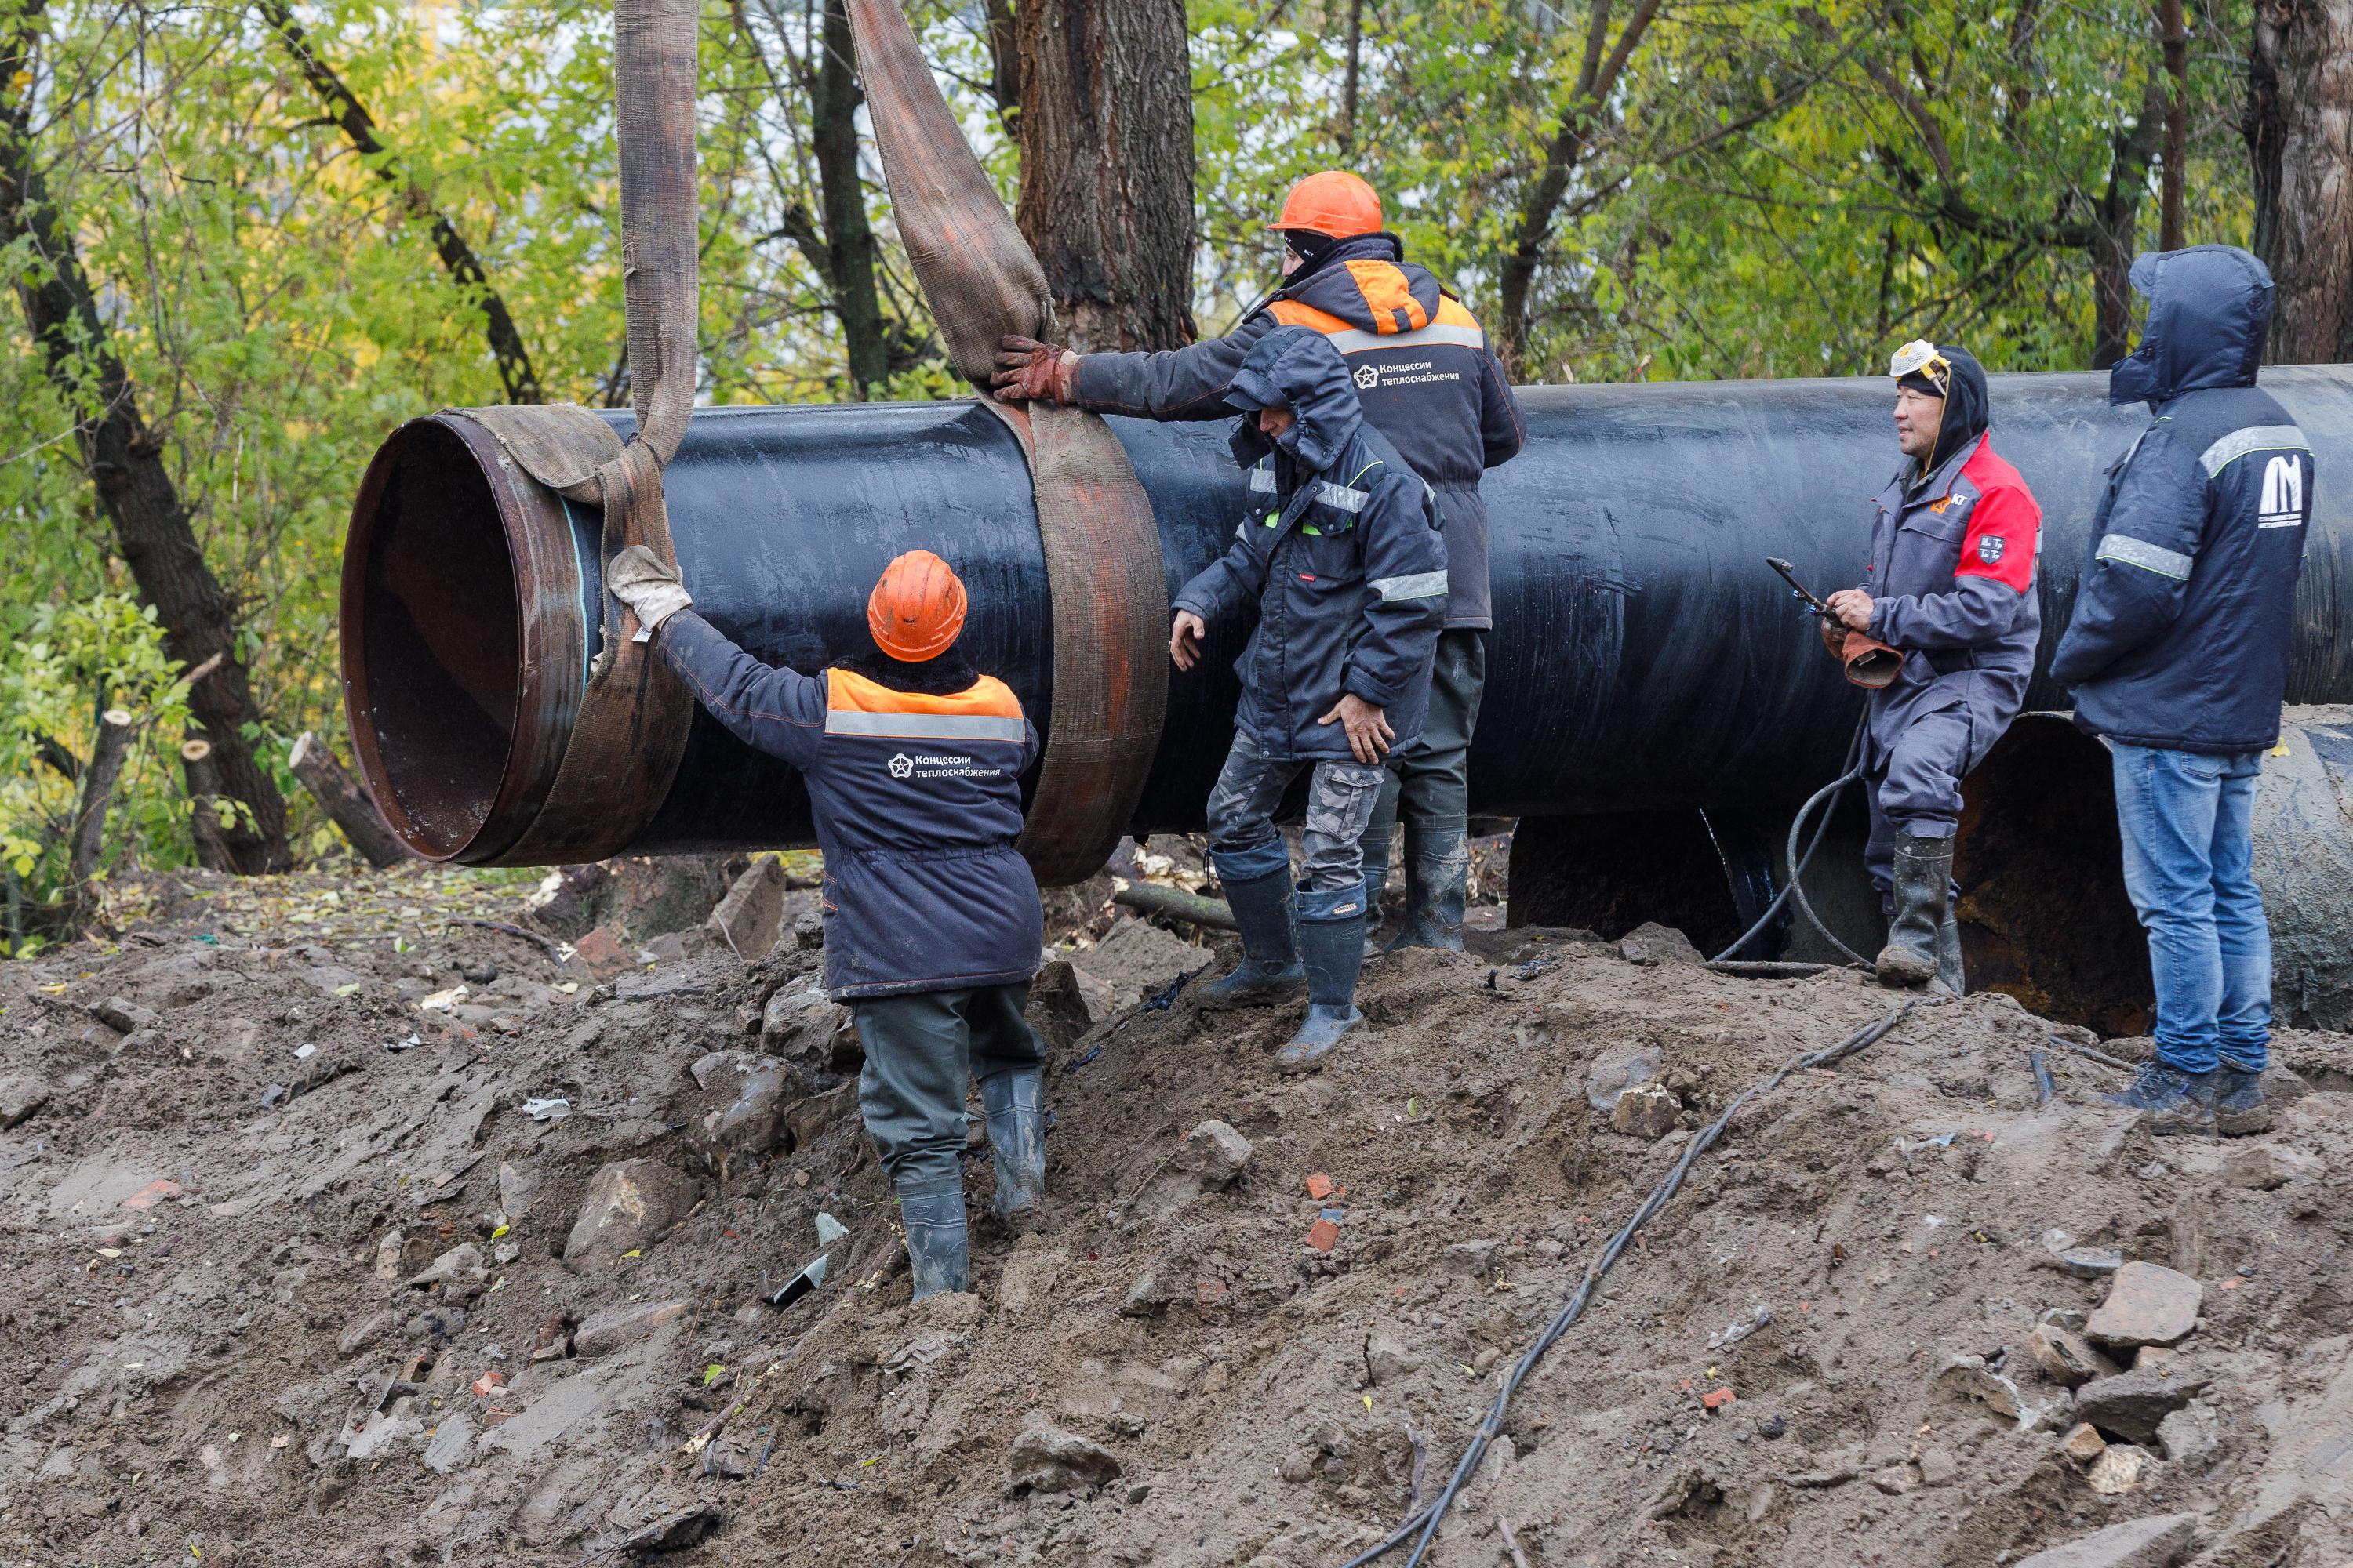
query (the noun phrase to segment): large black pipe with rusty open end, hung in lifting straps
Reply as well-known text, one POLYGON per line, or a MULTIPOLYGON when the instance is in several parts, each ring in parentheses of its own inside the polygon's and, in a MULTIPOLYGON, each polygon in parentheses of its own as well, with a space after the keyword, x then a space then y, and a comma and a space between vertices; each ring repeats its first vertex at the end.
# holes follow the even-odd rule
MULTIPOLYGON (((2322 454, 2289 701, 2353 701, 2353 367, 2266 371, 2322 454)), ((1494 611, 1473 752, 1480 813, 1772 809, 1838 771, 1859 710, 1765 557, 1854 583, 1868 496, 1897 463, 1880 378, 1522 390, 1527 449, 1487 477, 1494 611)), ((2106 465, 2146 423, 2104 376, 1995 376, 1995 447, 2045 512, 2057 639, 2106 465)), ((619 416, 616 416, 616 423, 619 416)), ((1226 428, 1111 421, 1153 501, 1169 590, 1242 512, 1226 428)), ((899 550, 972 588, 969 651, 1049 712, 1047 576, 1021 449, 974 404, 696 411, 666 475, 671 534, 706 616, 774 663, 866 646, 864 599, 899 550)), ((546 797, 598 639, 598 529, 456 414, 379 451, 344 581, 355 745, 426 856, 499 863, 546 797)), ((1169 684, 1136 830, 1200 825, 1226 752, 1247 623, 1169 684)), ((2061 693, 2035 684, 2031 705, 2061 693)), ((546 835, 534 835, 546 837, 546 835)), ((635 851, 809 842, 791 769, 696 715, 635 851)), ((619 846, 614 846, 619 849, 619 846)), ((527 856, 518 856, 527 858, 527 856)))

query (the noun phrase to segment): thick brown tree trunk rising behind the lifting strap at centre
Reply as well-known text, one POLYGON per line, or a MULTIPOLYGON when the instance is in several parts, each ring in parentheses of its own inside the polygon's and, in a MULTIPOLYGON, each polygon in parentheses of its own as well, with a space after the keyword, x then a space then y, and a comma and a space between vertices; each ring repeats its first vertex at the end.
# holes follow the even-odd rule
POLYGON ((1184 0, 1024 0, 1021 202, 1061 339, 1193 341, 1193 75, 1184 0))

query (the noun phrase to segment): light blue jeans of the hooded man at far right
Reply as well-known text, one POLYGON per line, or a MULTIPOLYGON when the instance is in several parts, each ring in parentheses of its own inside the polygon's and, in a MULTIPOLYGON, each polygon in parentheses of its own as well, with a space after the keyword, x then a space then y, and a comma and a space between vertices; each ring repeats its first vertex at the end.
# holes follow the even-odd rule
POLYGON ((2111 743, 2125 891, 2148 931, 2158 1060, 2261 1072, 2271 1046, 2271 926, 2254 889, 2261 752, 2209 757, 2111 743))

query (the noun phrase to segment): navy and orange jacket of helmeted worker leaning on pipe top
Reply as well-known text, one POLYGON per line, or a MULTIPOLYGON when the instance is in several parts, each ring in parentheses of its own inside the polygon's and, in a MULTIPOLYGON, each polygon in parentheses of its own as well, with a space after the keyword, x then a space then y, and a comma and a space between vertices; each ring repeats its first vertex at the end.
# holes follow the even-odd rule
POLYGON ((1494 625, 1487 503, 1478 480, 1508 463, 1527 423, 1487 331, 1395 235, 1355 235, 1294 273, 1224 339, 1141 355, 1085 355, 1078 407, 1144 418, 1224 418, 1242 360, 1278 327, 1325 334, 1355 376, 1365 418, 1438 491, 1447 522, 1447 625, 1494 625))

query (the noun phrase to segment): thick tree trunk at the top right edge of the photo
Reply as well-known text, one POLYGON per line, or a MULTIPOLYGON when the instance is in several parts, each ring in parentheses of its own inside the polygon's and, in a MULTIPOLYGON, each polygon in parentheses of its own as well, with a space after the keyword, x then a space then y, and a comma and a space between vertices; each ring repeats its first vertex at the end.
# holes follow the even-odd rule
POLYGON ((2257 0, 2245 129, 2271 360, 2353 357, 2353 0, 2257 0))

